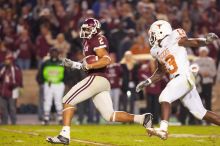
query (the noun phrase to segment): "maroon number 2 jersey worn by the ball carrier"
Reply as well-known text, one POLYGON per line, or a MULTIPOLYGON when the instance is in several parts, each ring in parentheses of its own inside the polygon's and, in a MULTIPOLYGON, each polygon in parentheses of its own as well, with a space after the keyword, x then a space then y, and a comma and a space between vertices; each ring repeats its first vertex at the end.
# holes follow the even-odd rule
MULTIPOLYGON (((105 36, 99 34, 94 35, 91 39, 84 39, 83 40, 83 54, 86 56, 89 55, 96 55, 95 50, 105 48, 107 52, 108 48, 108 40, 105 36)), ((99 69, 91 69, 88 71, 88 75, 100 75, 106 77, 106 68, 99 68, 99 69)))

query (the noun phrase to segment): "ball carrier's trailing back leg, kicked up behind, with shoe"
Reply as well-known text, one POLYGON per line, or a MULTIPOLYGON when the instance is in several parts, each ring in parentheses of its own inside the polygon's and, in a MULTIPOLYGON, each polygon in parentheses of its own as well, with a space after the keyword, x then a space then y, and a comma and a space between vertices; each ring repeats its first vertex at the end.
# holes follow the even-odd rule
POLYGON ((93 98, 96 108, 106 121, 110 122, 135 122, 145 127, 152 126, 152 115, 134 115, 124 111, 114 111, 109 91, 103 91, 93 98))

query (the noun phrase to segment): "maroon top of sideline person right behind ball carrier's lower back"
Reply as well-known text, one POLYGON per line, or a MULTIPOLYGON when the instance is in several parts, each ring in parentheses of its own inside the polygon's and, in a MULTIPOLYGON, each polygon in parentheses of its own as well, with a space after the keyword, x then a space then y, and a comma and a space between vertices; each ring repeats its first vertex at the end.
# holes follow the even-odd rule
POLYGON ((107 67, 107 77, 113 89, 121 87, 121 73, 121 66, 118 63, 107 67))

